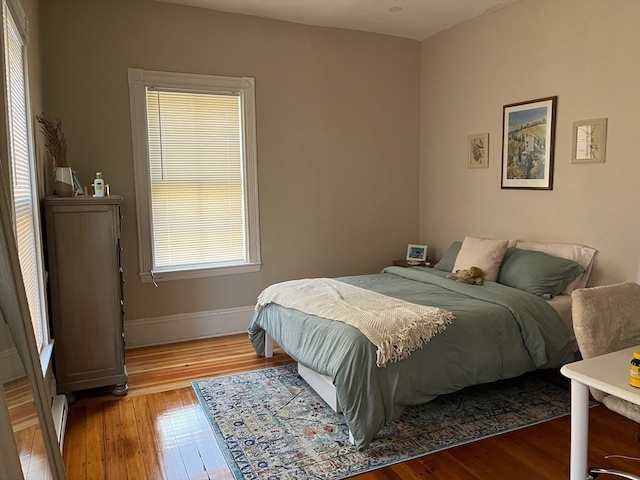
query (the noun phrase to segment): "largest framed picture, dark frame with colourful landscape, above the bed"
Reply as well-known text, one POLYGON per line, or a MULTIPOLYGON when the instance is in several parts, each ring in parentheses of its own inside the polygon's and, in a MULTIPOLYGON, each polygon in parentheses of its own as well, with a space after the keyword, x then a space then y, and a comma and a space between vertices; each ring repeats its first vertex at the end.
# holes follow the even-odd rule
POLYGON ((553 189, 557 99, 504 106, 502 188, 553 189))

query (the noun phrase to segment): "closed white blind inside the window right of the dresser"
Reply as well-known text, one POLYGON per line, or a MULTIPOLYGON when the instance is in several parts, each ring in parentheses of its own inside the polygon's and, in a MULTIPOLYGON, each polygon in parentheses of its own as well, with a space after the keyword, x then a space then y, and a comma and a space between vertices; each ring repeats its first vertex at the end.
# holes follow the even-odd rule
POLYGON ((245 260, 240 97, 147 89, 154 269, 245 260))

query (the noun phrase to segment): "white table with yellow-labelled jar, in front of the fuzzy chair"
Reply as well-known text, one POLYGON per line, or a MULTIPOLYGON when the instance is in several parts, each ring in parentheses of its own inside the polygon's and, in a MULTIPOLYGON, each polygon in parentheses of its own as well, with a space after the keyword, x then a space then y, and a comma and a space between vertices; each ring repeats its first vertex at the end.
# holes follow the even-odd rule
POLYGON ((629 362, 640 345, 564 365, 571 379, 571 480, 587 478, 589 387, 640 405, 640 388, 629 385, 629 362))

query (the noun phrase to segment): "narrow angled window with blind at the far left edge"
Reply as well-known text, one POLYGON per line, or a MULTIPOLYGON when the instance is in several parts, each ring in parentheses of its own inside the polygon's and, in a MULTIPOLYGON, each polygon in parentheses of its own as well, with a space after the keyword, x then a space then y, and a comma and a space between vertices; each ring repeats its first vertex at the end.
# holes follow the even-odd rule
POLYGON ((33 131, 29 104, 26 17, 18 2, 2 2, 2 47, 7 112, 8 185, 13 228, 36 346, 43 362, 50 357, 44 294, 44 267, 36 188, 33 131), (46 352, 49 353, 46 353, 46 352))

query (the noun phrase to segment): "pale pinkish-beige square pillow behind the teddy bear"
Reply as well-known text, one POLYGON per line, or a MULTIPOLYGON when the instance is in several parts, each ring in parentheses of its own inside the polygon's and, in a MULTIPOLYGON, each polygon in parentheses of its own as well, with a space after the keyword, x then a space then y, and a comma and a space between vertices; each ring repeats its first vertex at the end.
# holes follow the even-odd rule
POLYGON ((485 280, 495 282, 508 244, 509 240, 465 237, 453 271, 468 270, 470 267, 476 266, 484 272, 485 280))

